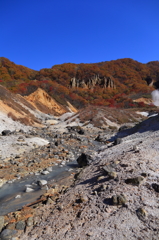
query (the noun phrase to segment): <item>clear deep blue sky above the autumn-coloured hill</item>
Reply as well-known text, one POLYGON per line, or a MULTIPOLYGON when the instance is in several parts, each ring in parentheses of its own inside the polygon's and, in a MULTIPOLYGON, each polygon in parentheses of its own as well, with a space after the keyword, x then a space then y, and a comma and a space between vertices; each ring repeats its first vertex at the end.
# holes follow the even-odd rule
POLYGON ((159 0, 0 0, 0 56, 35 70, 159 60, 159 0))

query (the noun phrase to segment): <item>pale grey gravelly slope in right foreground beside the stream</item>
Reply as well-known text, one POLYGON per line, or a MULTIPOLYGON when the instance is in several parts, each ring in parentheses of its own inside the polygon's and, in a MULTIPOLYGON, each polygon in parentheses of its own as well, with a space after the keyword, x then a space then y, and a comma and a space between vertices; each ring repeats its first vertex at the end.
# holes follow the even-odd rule
POLYGON ((37 210, 21 240, 159 239, 159 117, 122 134, 56 202, 37 210))

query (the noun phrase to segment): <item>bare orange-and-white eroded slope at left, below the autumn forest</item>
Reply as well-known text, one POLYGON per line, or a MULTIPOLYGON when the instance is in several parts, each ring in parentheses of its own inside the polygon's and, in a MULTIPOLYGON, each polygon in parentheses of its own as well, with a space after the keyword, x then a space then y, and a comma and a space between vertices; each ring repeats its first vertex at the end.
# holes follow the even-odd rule
POLYGON ((76 112, 76 109, 71 104, 67 103, 67 107, 61 106, 42 89, 22 97, 0 86, 1 130, 13 129, 15 125, 17 128, 18 123, 18 129, 23 129, 21 124, 40 127, 44 119, 74 111, 76 112))

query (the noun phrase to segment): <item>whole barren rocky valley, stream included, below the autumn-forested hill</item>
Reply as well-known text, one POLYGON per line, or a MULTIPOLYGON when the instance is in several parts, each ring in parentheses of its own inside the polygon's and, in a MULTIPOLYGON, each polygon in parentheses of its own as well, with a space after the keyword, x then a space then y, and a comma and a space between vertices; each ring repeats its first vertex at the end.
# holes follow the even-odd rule
POLYGON ((0 91, 2 240, 158 239, 158 116, 103 106, 59 116, 41 89, 0 91))

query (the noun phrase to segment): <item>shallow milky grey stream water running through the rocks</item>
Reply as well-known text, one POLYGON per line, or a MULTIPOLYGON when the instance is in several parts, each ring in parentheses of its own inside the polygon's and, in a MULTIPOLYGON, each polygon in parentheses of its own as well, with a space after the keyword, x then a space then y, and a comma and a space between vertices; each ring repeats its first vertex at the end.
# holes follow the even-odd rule
POLYGON ((46 190, 40 189, 37 184, 38 180, 47 180, 48 182, 57 182, 64 177, 71 174, 77 167, 76 161, 69 162, 63 167, 53 166, 52 172, 47 175, 31 175, 21 180, 16 180, 13 183, 4 184, 0 188, 0 215, 6 215, 9 212, 14 212, 21 209, 24 205, 36 201, 46 190), (25 185, 31 185, 35 191, 26 193, 25 185), (15 198, 17 195, 21 195, 21 198, 15 198))

